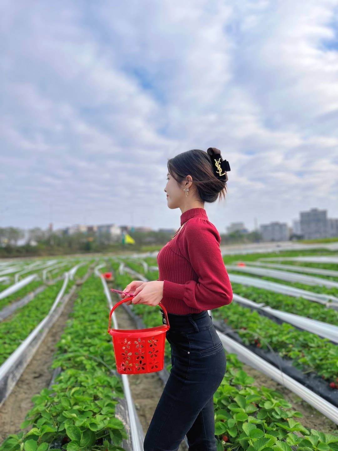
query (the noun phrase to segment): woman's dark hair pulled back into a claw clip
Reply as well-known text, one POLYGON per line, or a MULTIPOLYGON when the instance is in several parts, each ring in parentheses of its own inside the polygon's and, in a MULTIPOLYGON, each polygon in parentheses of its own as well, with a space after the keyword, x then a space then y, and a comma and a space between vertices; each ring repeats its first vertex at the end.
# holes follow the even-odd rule
MULTIPOLYGON (((223 161, 222 157, 221 161, 223 161)), ((187 175, 192 176, 192 181, 196 185, 202 202, 215 202, 218 195, 219 200, 222 196, 225 198, 227 184, 215 175, 210 155, 207 152, 199 149, 188 150, 170 158, 167 166, 169 174, 178 184, 181 184, 187 175)))

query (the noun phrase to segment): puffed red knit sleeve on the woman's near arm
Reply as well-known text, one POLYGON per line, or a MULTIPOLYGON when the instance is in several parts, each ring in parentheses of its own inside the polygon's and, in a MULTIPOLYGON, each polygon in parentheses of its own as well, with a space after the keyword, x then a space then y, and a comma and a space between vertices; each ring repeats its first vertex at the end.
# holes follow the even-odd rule
POLYGON ((219 243, 219 233, 209 221, 189 221, 181 250, 192 265, 198 282, 191 280, 179 284, 164 280, 163 296, 182 299, 187 306, 200 310, 230 304, 233 290, 219 243))

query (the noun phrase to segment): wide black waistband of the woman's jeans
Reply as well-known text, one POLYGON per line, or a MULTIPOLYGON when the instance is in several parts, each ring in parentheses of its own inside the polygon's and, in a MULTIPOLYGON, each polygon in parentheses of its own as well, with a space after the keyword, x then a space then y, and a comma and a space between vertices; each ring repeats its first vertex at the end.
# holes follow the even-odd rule
MULTIPOLYGON (((163 324, 166 323, 164 311, 160 309, 163 324)), ((176 315, 167 313, 169 319, 169 327, 172 331, 177 332, 198 332, 203 331, 212 325, 211 317, 207 310, 200 313, 188 313, 187 315, 176 315)))

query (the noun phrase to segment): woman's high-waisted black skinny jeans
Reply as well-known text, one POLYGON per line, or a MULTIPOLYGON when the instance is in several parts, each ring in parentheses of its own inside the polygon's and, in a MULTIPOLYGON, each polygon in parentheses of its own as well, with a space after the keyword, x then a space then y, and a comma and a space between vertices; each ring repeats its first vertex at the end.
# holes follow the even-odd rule
POLYGON ((189 451, 216 451, 213 395, 226 368, 222 343, 207 311, 168 318, 172 369, 144 451, 177 451, 185 435, 189 451))

